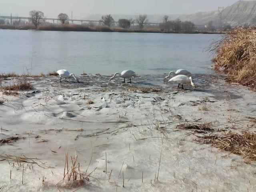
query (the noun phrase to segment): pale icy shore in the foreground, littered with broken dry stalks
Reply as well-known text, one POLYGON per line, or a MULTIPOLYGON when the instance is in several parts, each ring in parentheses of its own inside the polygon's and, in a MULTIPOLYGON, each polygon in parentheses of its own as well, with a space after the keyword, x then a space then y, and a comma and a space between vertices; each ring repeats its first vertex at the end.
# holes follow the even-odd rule
POLYGON ((0 145, 2 191, 78 189, 55 186, 67 151, 77 154, 81 174, 90 162, 89 185, 78 191, 256 191, 255 161, 198 141, 255 132, 256 93, 220 74, 195 75, 197 88, 184 90, 163 77, 139 76, 132 84, 91 74, 80 83, 28 78, 34 90, 0 93, 0 138, 18 137, 0 145), (210 123, 212 131, 177 126, 184 122, 210 123))

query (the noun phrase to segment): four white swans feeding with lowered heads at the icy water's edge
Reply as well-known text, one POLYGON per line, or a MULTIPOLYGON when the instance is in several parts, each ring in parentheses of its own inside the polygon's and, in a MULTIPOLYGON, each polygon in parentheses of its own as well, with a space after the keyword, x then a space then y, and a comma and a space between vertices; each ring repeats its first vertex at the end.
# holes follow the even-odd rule
MULTIPOLYGON (((67 70, 65 69, 61 69, 61 70, 58 70, 57 73, 59 74, 60 76, 60 82, 61 82, 61 78, 65 78, 65 81, 67 80, 67 78, 69 77, 74 77, 74 79, 78 81, 78 78, 75 76, 75 74, 73 73, 69 73, 67 70)), ((191 74, 188 70, 185 70, 185 69, 178 69, 176 72, 173 72, 171 71, 168 76, 166 76, 164 79, 167 79, 170 77, 171 74, 175 74, 176 76, 170 78, 170 80, 168 80, 168 82, 175 82, 175 83, 178 83, 178 88, 180 88, 180 85, 182 86, 182 89, 183 88, 183 84, 187 84, 187 83, 190 83, 194 88, 196 88, 196 85, 194 84, 194 82, 192 81, 192 77, 188 77, 187 75, 191 74)), ((114 76, 112 76, 109 80, 111 81, 113 78, 115 78, 116 76, 119 76, 119 77, 122 77, 124 78, 124 81, 125 82, 125 78, 130 78, 130 82, 131 83, 131 78, 132 77, 135 77, 137 74, 132 71, 132 70, 124 70, 122 71, 121 73, 118 73, 116 72, 114 74, 114 76)))

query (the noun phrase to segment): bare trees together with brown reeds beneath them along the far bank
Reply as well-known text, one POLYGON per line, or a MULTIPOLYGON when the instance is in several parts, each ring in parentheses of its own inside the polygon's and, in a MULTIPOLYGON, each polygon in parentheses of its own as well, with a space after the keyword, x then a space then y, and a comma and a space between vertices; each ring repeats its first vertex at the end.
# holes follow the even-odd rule
POLYGON ((58 14, 57 23, 46 22, 44 13, 37 10, 29 12, 30 20, 0 19, 0 29, 17 30, 48 30, 48 31, 85 31, 85 32, 142 32, 142 33, 205 33, 221 34, 222 30, 216 30, 214 27, 196 26, 190 21, 181 21, 180 19, 169 20, 169 16, 164 16, 160 23, 150 23, 147 15, 139 15, 136 18, 120 18, 117 22, 112 16, 104 15, 96 21, 82 22, 81 24, 72 24, 65 13, 58 14))

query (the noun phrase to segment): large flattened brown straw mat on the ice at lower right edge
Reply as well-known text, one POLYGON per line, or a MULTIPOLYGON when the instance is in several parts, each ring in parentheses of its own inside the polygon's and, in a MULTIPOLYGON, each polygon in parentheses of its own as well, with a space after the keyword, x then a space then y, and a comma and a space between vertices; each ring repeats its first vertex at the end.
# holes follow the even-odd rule
POLYGON ((254 132, 246 131, 244 134, 238 134, 230 131, 221 135, 198 137, 200 142, 256 160, 256 133, 254 132))

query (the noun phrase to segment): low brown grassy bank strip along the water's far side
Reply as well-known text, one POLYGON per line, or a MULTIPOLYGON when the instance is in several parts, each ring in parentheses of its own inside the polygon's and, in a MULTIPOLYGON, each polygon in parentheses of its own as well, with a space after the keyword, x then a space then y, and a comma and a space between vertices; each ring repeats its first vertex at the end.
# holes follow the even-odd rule
POLYGON ((76 31, 76 32, 127 32, 127 33, 173 33, 173 34, 225 34, 224 31, 193 31, 193 32, 173 32, 160 30, 159 28, 143 28, 143 29, 124 29, 108 26, 82 26, 82 25, 44 25, 36 28, 33 25, 12 26, 0 25, 0 29, 7 30, 40 30, 40 31, 76 31))

